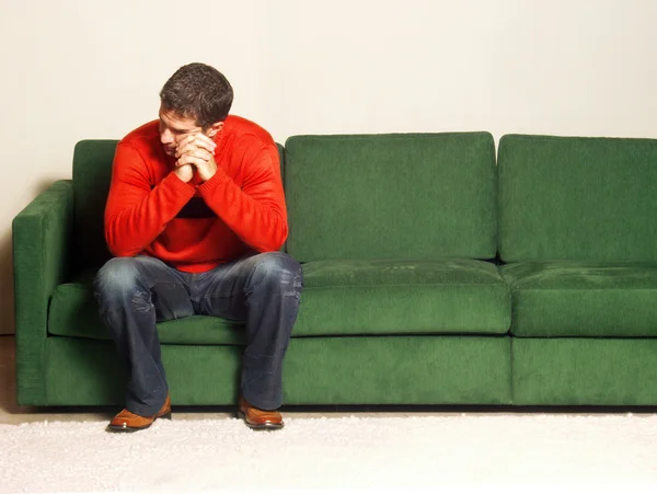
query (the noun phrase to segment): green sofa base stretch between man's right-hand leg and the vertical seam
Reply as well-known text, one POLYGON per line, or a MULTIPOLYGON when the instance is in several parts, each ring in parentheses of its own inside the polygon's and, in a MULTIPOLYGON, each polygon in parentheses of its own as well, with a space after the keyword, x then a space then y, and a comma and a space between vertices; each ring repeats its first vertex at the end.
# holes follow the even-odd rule
POLYGON ((508 404, 505 336, 292 338, 287 404, 508 404))

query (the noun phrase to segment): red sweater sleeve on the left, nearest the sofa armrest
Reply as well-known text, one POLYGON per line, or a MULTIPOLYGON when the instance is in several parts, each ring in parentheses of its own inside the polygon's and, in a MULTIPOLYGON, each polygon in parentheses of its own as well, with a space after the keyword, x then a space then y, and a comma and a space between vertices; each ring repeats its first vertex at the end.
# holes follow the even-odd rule
POLYGON ((115 256, 134 256, 150 245, 185 204, 195 187, 169 174, 151 188, 139 151, 119 143, 105 207, 105 240, 115 256))

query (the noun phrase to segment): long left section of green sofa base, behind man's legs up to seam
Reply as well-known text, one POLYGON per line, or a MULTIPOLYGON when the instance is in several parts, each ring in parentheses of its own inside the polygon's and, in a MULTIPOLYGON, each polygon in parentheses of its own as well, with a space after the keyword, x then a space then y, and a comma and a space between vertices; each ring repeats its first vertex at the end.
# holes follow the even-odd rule
MULTIPOLYGON (((47 338, 39 405, 123 405, 125 372, 110 342, 47 338)), ((162 345, 175 405, 237 403, 232 345, 162 345)), ((286 404, 509 404, 510 342, 489 336, 292 338, 286 404)), ((32 404, 22 397, 21 404, 32 404)))

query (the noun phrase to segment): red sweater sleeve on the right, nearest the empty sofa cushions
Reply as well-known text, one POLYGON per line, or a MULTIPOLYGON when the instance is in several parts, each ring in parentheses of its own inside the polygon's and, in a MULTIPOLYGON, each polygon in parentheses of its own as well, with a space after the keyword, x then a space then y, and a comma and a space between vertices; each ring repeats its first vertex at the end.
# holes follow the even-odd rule
POLYGON ((242 242, 256 252, 277 251, 287 238, 288 223, 276 146, 246 151, 241 168, 242 186, 219 166, 198 191, 242 242))

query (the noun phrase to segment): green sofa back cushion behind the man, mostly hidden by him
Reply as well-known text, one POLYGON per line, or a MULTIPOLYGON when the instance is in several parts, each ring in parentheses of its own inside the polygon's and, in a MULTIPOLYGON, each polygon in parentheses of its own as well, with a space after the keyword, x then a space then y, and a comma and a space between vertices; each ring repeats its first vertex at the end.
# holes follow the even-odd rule
MULTIPOLYGON (((88 139, 73 152, 74 262, 78 271, 100 267, 111 257, 104 215, 112 162, 118 140, 88 139)), ((278 145, 279 156, 283 147, 278 145)), ((283 158, 281 158, 283 162, 283 158)))

